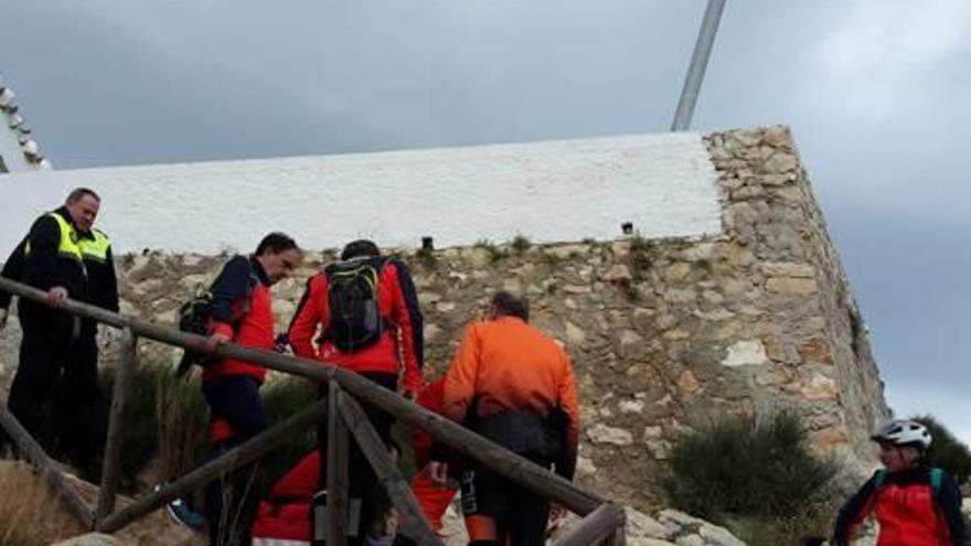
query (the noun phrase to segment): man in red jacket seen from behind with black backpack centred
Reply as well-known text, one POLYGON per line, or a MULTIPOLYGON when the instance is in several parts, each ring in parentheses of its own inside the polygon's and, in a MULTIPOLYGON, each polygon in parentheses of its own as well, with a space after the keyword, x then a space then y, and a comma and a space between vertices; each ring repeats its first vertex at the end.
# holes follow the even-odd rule
MULTIPOLYGON (((414 398, 422 385, 423 319, 418 309, 415 283, 405 265, 382 256, 371 240, 355 240, 341 253, 341 261, 310 278, 307 290, 290 323, 289 341, 297 356, 316 358, 355 372, 388 390, 398 390, 414 398), (319 333, 319 338, 318 338, 319 333), (314 340, 319 346, 314 346, 314 340), (399 377, 403 371, 403 377, 399 377)), ((321 386, 321 398, 327 385, 321 386)), ((393 418, 364 406, 371 424, 387 445, 393 418)), ((319 445, 326 452, 327 421, 321 424, 319 445)), ((380 493, 376 478, 356 442, 350 445, 349 526, 350 544, 363 538, 370 526, 380 493), (356 516, 356 517, 355 517, 356 516)), ((320 489, 326 488, 321 472, 320 489)), ((322 529, 314 529, 321 544, 322 529)))

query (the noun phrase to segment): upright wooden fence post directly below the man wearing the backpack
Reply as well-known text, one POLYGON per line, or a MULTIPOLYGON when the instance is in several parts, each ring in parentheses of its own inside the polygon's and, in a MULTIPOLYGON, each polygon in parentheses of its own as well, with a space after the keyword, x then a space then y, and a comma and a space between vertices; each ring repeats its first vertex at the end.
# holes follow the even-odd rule
POLYGON ((348 427, 341 417, 341 387, 328 385, 327 544, 348 544, 348 427))

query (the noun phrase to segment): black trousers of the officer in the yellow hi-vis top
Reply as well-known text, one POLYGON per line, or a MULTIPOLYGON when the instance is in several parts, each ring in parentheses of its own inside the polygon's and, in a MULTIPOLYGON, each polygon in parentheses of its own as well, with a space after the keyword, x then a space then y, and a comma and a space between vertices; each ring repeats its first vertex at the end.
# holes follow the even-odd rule
POLYGON ((23 341, 10 411, 55 456, 97 473, 107 430, 97 325, 29 302, 20 306, 20 323, 23 341))

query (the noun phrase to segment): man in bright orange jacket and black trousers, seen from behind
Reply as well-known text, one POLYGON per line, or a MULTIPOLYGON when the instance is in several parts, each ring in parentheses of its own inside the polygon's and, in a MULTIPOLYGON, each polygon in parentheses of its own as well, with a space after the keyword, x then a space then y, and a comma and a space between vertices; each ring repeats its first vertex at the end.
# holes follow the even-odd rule
MULTIPOLYGON (((524 299, 492 297, 487 320, 466 330, 446 374, 442 413, 572 480, 579 436, 573 367, 529 318, 524 299)), ((444 483, 447 464, 433 462, 429 472, 444 483)), ((470 545, 545 543, 548 501, 474 464, 462 471, 461 493, 470 545)))

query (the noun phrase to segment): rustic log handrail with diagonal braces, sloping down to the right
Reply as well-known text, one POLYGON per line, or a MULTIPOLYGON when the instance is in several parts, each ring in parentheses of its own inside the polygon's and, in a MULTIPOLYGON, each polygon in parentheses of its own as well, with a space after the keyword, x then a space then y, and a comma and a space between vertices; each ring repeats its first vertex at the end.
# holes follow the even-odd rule
MULTIPOLYGON (((45 292, 2 277, 0 277, 0 291, 6 291, 42 304, 46 303, 45 292)), ((353 395, 353 397, 395 416, 398 420, 410 425, 412 427, 425 430, 435 440, 449 446, 456 452, 489 468, 497 474, 510 479, 534 493, 545 499, 549 499, 577 514, 583 516, 589 515, 589 517, 583 521, 578 528, 574 529, 573 533, 564 538, 561 543, 563 546, 596 544, 596 542, 589 540, 596 539, 597 542, 602 542, 610 536, 615 537, 615 543, 617 544, 622 543, 623 540, 625 514, 623 511, 617 508, 616 505, 606 504, 606 502, 599 496, 577 488, 572 482, 554 474, 548 469, 540 467, 521 456, 497 446, 460 425, 446 419, 438 414, 428 411, 417 404, 414 404, 391 390, 380 387, 367 378, 353 372, 349 372, 328 363, 282 355, 268 351, 246 349, 232 343, 222 344, 214 351, 210 351, 205 347, 206 339, 204 336, 181 332, 171 326, 113 313, 95 306, 71 299, 64 300, 58 306, 58 309, 66 313, 122 329, 126 332, 126 340, 130 340, 130 343, 126 342, 124 344, 121 370, 119 370, 119 377, 116 379, 120 382, 120 386, 116 392, 118 407, 116 410, 113 404, 111 430, 114 433, 110 433, 109 436, 111 440, 107 448, 108 452, 105 462, 106 475, 103 481, 105 491, 102 491, 99 494, 97 513, 93 512, 92 508, 81 500, 77 493, 71 489, 63 475, 53 468, 50 458, 47 458, 40 446, 36 445, 30 435, 19 422, 17 422, 17 419, 6 410, 6 408, 0 408, 0 425, 2 425, 11 437, 14 438, 14 441, 17 441, 18 446, 21 447, 21 450, 28 454, 31 462, 43 470, 44 475, 65 499, 72 512, 75 513, 75 515, 82 520, 88 528, 92 528, 97 524, 99 531, 113 533, 135 520, 142 517, 148 512, 162 506, 166 502, 177 499, 192 491, 194 488, 215 479, 220 473, 231 471, 239 465, 263 457, 277 445, 327 416, 329 405, 333 409, 337 409, 334 406, 340 407, 339 413, 342 414, 343 419, 348 419, 349 414, 352 416, 356 415, 360 413, 360 409, 356 408, 356 404, 353 403, 353 399, 341 399, 341 395, 337 388, 340 386, 350 395, 353 395), (329 400, 321 400, 311 405, 284 424, 257 435, 244 445, 224 453, 206 464, 203 464, 160 491, 145 495, 121 511, 109 515, 114 504, 115 488, 117 486, 117 477, 115 475, 117 461, 115 461, 115 459, 117 459, 117 451, 120 448, 120 413, 124 407, 124 390, 125 384, 127 383, 126 374, 130 372, 130 370, 125 368, 134 367, 136 336, 148 338, 189 351, 234 358, 276 370, 278 372, 314 379, 323 384, 333 385, 333 387, 330 388, 332 396, 329 397, 329 400), (131 360, 132 362, 129 363, 126 358, 131 360), (334 394, 337 396, 333 396, 334 394)), ((332 418, 334 417, 335 416, 332 416, 332 418)), ((350 418, 354 419, 354 417, 350 418)), ((362 438, 366 440, 371 436, 367 435, 366 431, 363 432, 364 436, 361 436, 362 430, 364 429, 361 429, 360 426, 356 430, 354 427, 350 428, 356 436, 359 436, 359 442, 362 438)), ((333 430, 334 427, 331 427, 331 429, 333 430)), ((367 430, 373 432, 373 429, 367 430)), ((342 433, 346 435, 348 431, 342 431, 342 433)), ((372 449, 372 451, 374 450, 372 449)), ((375 464, 375 461, 377 461, 376 464, 382 467, 381 463, 384 461, 376 458, 375 453, 370 453, 370 459, 374 459, 370 462, 375 464)), ((328 459, 330 459, 330 457, 328 459)), ((334 463, 339 463, 339 461, 328 461, 328 467, 331 467, 331 470, 333 470, 335 465, 334 463)), ((324 464, 324 461, 321 461, 321 464, 324 464)), ((386 464, 383 467, 386 467, 386 464)), ((375 470, 381 469, 375 468, 375 470)), ((387 468, 384 468, 384 470, 386 471, 384 479, 387 481, 387 475, 391 475, 388 473, 391 471, 388 471, 387 468)), ((399 485, 396 482, 390 482, 388 484, 391 486, 399 485)), ((334 485, 338 485, 337 489, 340 489, 339 482, 334 485)), ((402 493, 401 491, 395 492, 402 493)), ((399 503, 406 505, 412 504, 407 502, 405 496, 401 494, 397 496, 399 503)), ((328 512, 339 513, 341 512, 341 507, 337 503, 333 503, 328 507, 328 512)), ((409 514, 409 516, 413 520, 413 524, 420 518, 420 515, 417 518, 415 517, 415 514, 409 514)), ((419 525, 422 531, 420 534, 425 535, 422 538, 430 538, 434 544, 435 538, 431 538, 431 535, 425 533, 427 529, 424 527, 427 526, 427 522, 424 523, 424 526, 419 525)))

